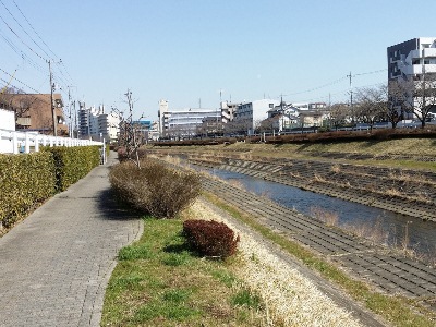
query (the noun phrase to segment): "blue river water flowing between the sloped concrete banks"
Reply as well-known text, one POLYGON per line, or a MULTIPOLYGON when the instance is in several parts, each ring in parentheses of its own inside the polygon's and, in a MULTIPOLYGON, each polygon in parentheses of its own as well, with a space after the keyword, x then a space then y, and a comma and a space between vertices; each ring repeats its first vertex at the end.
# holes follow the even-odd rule
POLYGON ((419 254, 436 256, 436 222, 365 206, 323 194, 303 191, 263 179, 219 169, 204 169, 245 190, 266 196, 283 206, 315 217, 316 211, 337 216, 338 225, 344 229, 359 230, 382 243, 408 247, 419 254))

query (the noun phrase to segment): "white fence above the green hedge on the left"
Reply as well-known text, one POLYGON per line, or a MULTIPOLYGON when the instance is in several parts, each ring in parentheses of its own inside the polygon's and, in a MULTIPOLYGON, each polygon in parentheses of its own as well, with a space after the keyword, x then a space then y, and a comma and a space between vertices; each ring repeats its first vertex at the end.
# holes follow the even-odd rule
POLYGON ((39 152, 39 146, 52 147, 86 145, 100 145, 104 147, 105 142, 50 136, 38 134, 36 132, 16 132, 0 130, 0 153, 2 154, 28 154, 31 152, 39 152))

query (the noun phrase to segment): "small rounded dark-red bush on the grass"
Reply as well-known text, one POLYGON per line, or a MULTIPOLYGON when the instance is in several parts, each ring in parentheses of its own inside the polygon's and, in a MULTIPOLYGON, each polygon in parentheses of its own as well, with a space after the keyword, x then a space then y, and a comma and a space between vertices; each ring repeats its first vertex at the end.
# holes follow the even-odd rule
POLYGON ((199 254, 226 258, 237 251, 239 235, 226 223, 208 220, 185 220, 183 234, 199 254))

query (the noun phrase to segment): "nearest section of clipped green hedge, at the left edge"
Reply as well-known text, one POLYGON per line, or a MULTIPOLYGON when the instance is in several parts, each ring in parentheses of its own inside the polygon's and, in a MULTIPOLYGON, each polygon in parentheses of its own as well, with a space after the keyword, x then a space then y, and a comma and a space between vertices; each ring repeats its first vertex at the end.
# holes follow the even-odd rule
POLYGON ((3 227, 12 226, 55 193, 51 153, 0 155, 0 222, 3 227))

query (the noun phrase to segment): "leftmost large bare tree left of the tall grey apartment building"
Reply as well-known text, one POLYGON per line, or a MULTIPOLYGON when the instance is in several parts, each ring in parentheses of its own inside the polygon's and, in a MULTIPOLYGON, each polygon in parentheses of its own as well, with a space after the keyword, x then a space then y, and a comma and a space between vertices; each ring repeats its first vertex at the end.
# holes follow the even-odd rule
POLYGON ((386 119, 387 99, 384 87, 363 87, 356 93, 356 109, 358 119, 370 125, 370 130, 376 122, 386 119))

